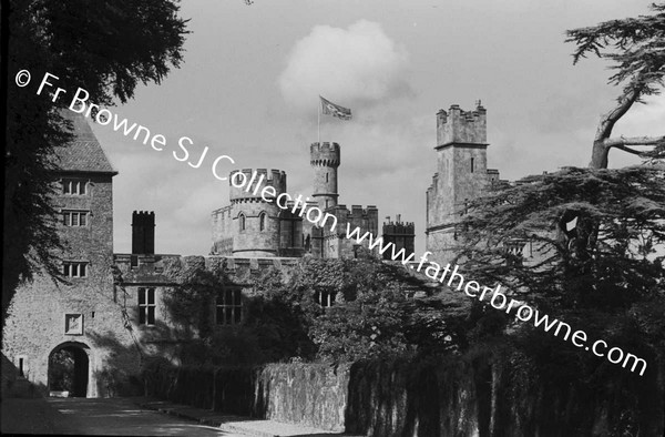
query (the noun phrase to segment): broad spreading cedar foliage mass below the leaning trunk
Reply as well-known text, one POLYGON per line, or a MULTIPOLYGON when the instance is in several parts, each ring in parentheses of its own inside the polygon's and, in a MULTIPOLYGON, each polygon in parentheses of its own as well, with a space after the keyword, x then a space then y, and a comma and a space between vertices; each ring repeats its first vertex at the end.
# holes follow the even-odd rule
MULTIPOLYGON (((656 293, 664 278, 665 169, 569 167, 478 199, 460 224, 466 268, 548 306, 624 306, 656 293), (560 228, 575 211, 579 235, 560 228), (507 262, 525 246, 531 262, 507 262)), ((573 218, 571 218, 571 223, 573 218)))

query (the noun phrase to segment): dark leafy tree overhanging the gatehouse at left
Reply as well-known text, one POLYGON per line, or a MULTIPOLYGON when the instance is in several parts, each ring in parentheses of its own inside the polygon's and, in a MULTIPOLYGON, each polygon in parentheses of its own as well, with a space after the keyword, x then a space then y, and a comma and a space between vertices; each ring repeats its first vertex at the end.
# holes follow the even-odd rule
POLYGON ((90 93, 90 100, 113 105, 134 95, 139 82, 160 83, 182 62, 187 20, 177 0, 51 2, 14 0, 2 8, 2 89, 7 92, 4 243, 2 321, 21 281, 37 272, 59 277, 61 242, 55 232, 52 155, 66 146, 71 129, 60 105, 37 87, 45 72, 58 85, 90 93), (16 74, 28 70, 30 87, 19 88, 16 74))

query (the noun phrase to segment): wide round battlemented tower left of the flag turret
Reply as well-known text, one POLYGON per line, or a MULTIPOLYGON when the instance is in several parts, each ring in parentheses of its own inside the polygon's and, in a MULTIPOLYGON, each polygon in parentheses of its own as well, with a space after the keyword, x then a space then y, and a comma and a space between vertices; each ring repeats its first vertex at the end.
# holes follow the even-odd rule
POLYGON ((231 172, 229 185, 233 255, 277 256, 280 210, 275 199, 286 193, 286 173, 266 169, 235 170, 231 172))

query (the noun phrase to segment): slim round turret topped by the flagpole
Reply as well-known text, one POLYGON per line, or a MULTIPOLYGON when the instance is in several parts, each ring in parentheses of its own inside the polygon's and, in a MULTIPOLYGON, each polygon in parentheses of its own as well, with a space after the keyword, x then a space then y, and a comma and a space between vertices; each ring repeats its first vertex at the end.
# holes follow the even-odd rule
POLYGON ((311 143, 310 164, 314 167, 314 200, 320 210, 337 205, 337 167, 339 144, 311 143))

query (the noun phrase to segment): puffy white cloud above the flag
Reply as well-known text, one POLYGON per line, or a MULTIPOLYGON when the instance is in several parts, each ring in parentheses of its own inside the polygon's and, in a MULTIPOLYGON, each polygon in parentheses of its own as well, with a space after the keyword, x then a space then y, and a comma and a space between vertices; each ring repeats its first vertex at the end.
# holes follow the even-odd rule
POLYGON ((376 22, 316 26, 293 48, 279 88, 298 110, 311 110, 318 94, 342 105, 371 105, 411 93, 407 58, 376 22))

